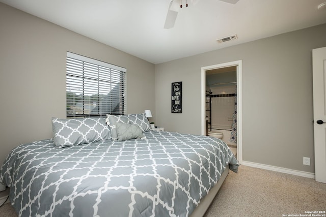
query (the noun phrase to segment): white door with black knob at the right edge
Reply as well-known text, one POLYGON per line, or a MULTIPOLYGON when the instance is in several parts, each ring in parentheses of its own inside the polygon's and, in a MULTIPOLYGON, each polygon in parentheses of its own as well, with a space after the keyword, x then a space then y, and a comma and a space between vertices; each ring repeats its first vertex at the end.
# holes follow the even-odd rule
POLYGON ((326 47, 312 50, 315 178, 326 183, 326 47))

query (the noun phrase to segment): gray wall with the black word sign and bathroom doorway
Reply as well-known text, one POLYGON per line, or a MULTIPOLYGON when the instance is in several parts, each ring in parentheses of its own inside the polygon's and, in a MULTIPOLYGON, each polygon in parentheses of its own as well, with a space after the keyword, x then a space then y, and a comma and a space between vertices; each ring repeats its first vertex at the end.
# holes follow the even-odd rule
POLYGON ((242 60, 243 161, 313 173, 312 49, 325 36, 323 24, 156 65, 156 125, 201 134, 201 68, 242 60), (176 81, 182 114, 171 113, 176 81))

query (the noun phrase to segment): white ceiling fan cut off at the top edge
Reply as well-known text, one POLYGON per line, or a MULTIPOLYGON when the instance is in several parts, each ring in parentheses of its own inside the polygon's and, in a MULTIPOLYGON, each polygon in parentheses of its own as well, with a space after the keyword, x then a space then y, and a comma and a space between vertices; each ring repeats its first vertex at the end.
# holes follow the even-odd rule
MULTIPOLYGON (((186 0, 187 1, 187 0, 186 0)), ((196 5, 199 0, 191 0, 193 5, 196 5)), ((236 4, 239 0, 218 0, 230 4, 236 4)), ((164 28, 172 28, 174 26, 174 23, 177 19, 178 11, 179 8, 182 8, 181 4, 182 0, 171 0, 170 5, 169 5, 169 10, 167 13, 167 18, 165 20, 164 28)), ((186 2, 186 7, 188 7, 188 4, 186 2)))

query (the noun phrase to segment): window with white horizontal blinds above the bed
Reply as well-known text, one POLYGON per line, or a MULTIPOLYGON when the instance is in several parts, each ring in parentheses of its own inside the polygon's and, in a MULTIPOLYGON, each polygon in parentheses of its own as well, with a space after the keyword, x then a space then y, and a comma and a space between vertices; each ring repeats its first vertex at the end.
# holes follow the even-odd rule
POLYGON ((125 114, 126 69, 67 52, 67 117, 125 114))

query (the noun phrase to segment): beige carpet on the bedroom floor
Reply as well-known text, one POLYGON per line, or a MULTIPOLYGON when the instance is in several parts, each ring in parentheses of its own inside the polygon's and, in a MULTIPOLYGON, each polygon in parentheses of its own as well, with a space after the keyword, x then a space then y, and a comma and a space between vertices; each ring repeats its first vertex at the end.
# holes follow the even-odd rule
MULTIPOLYGON (((241 165, 238 174, 230 171, 205 217, 293 216, 325 210, 326 184, 241 165)), ((10 204, 5 204, 0 216, 17 215, 10 204)))

